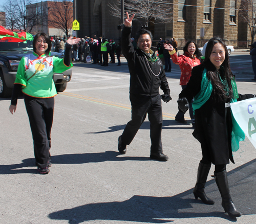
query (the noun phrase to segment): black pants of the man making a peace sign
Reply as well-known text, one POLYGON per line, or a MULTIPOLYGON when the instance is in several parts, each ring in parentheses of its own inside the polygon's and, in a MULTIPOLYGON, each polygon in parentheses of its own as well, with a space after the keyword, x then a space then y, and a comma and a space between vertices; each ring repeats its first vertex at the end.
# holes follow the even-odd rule
POLYGON ((130 145, 137 131, 148 114, 150 121, 150 138, 151 138, 151 153, 162 153, 162 104, 161 96, 145 97, 131 94, 130 100, 132 103, 132 120, 129 121, 122 133, 121 140, 124 144, 130 145))

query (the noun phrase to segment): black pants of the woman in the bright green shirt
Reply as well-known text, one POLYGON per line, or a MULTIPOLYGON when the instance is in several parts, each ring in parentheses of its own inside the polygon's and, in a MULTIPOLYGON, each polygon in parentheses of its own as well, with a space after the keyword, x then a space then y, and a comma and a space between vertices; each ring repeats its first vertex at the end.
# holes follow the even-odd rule
POLYGON ((25 95, 25 105, 29 116, 36 166, 45 168, 51 161, 51 129, 53 122, 54 97, 35 98, 25 95))

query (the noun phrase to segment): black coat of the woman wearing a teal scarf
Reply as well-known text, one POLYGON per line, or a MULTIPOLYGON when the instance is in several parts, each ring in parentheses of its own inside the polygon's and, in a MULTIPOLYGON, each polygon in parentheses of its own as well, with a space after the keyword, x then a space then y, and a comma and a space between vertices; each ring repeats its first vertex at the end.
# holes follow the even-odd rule
MULTIPOLYGON (((200 89, 203 64, 193 68, 187 86, 179 97, 186 97, 190 102, 200 89)), ((239 94, 238 101, 252 98, 252 94, 239 94)), ((212 91, 208 101, 195 110, 195 130, 193 136, 201 143, 202 153, 212 164, 234 163, 231 150, 231 113, 225 102, 217 102, 212 91)))

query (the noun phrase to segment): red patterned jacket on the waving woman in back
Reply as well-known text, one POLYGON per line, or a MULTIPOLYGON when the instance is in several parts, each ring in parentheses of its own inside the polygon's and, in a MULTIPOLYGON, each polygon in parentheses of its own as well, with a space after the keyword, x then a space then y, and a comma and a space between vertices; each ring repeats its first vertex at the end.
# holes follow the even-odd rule
POLYGON ((186 85, 190 79, 192 69, 200 64, 200 60, 196 56, 194 59, 188 52, 185 52, 184 55, 180 55, 179 57, 177 53, 171 54, 170 57, 175 64, 180 65, 180 85, 186 85))

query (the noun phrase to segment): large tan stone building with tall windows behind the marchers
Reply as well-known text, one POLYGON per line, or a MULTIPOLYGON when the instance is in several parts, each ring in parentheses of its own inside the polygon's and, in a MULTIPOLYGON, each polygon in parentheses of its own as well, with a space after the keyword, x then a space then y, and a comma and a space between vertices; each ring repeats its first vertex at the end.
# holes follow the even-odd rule
MULTIPOLYGON (((119 39, 117 26, 120 19, 111 15, 109 3, 118 0, 75 0, 76 19, 80 23, 78 37, 102 35, 109 39, 119 39)), ((248 25, 238 16, 240 1, 237 0, 167 0, 173 12, 173 21, 167 24, 149 26, 154 40, 175 37, 178 48, 186 41, 194 40, 199 47, 213 36, 220 36, 226 44, 247 47, 250 43, 248 25)), ((135 15, 136 17, 136 15, 135 15)), ((133 33, 140 29, 134 21, 133 33)))

